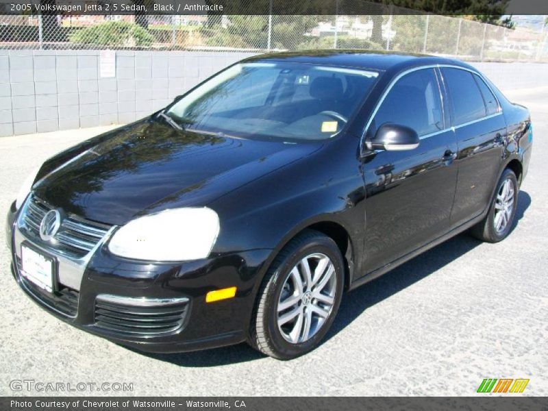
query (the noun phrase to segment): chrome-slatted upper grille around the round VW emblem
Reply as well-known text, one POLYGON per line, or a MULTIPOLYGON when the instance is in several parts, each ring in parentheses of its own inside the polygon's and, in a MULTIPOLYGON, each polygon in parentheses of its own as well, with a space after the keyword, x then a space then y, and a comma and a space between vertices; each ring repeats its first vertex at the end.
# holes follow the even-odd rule
POLYGON ((82 258, 105 236, 110 226, 82 219, 69 214, 62 219, 57 234, 48 242, 40 238, 40 223, 45 214, 51 210, 45 201, 32 195, 25 210, 23 210, 21 231, 38 244, 45 245, 72 258, 82 258))

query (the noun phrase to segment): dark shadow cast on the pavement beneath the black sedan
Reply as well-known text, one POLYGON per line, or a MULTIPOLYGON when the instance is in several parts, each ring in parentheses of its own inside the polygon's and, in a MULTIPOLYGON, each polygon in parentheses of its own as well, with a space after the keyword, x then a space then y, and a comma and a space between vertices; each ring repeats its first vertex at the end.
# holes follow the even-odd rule
MULTIPOLYGON (((519 193, 518 208, 512 231, 516 227, 516 224, 519 223, 519 220, 523 218, 530 204, 530 195, 527 192, 521 191, 519 193)), ((461 234, 402 264, 393 271, 386 273, 386 275, 374 279, 365 286, 349 292, 343 298, 343 303, 340 305, 336 319, 325 340, 329 340, 329 338, 345 329, 347 325, 352 323, 369 307, 412 286, 412 284, 438 271, 451 261, 456 260, 456 258, 464 256, 464 254, 480 244, 482 244, 481 241, 467 234, 461 234)), ((221 366, 264 358, 261 353, 243 343, 232 347, 190 353, 158 354, 136 352, 157 360, 190 367, 221 366)))

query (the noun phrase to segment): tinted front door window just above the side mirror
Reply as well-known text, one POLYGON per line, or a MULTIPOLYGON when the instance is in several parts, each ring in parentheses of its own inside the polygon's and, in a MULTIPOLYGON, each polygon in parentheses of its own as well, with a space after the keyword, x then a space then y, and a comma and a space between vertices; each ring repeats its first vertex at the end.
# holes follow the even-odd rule
POLYGON ((419 136, 444 129, 440 92, 433 69, 414 71, 397 81, 373 118, 370 138, 384 123, 406 125, 419 136))

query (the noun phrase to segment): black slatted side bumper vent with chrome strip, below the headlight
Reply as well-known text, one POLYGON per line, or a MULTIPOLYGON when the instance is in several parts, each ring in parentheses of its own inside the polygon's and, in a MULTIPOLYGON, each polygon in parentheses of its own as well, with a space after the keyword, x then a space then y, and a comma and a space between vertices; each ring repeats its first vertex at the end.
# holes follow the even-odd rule
POLYGON ((95 300, 95 326, 117 334, 162 336, 182 328, 188 302, 169 306, 131 306, 95 300))

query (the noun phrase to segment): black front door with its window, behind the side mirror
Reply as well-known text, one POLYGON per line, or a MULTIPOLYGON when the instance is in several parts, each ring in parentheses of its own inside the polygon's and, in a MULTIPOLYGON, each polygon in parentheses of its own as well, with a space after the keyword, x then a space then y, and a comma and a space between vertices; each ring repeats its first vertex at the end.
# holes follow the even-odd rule
POLYGON ((456 140, 445 118, 436 69, 397 79, 367 129, 406 125, 421 138, 407 151, 375 151, 363 159, 366 184, 366 270, 379 269, 445 234, 455 195, 456 140))

